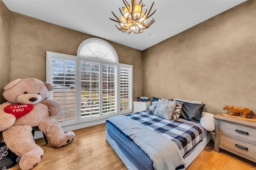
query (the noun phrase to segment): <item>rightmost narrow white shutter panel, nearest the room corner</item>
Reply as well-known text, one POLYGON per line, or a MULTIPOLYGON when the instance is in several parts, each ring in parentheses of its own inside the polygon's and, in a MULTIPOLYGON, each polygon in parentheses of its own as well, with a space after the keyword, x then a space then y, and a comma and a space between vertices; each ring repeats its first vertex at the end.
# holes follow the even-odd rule
POLYGON ((120 111, 132 111, 132 65, 119 64, 120 69, 120 111))

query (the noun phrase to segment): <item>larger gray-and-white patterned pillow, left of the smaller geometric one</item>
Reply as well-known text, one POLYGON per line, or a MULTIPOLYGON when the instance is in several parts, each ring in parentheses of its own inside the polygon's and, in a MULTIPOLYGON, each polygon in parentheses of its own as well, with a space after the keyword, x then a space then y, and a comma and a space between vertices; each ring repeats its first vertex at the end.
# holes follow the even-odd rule
POLYGON ((170 121, 172 119, 172 113, 174 111, 175 106, 175 101, 159 99, 156 106, 156 110, 154 111, 154 115, 170 121))

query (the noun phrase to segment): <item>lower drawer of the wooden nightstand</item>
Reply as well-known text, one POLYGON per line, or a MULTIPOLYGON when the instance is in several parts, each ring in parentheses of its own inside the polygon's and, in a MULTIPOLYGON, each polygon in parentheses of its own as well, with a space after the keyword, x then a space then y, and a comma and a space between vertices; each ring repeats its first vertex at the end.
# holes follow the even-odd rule
POLYGON ((230 136, 226 136, 220 134, 220 144, 219 147, 234 154, 238 154, 244 157, 250 157, 250 160, 254 160, 256 162, 256 145, 248 142, 244 142, 242 140, 232 138, 230 136))

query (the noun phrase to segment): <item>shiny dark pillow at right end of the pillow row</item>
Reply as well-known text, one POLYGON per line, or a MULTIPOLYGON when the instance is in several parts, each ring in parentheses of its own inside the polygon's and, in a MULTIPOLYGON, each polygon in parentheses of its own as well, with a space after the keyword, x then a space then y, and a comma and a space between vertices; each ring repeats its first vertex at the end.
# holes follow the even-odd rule
POLYGON ((205 104, 183 102, 180 118, 199 123, 204 106, 205 104))

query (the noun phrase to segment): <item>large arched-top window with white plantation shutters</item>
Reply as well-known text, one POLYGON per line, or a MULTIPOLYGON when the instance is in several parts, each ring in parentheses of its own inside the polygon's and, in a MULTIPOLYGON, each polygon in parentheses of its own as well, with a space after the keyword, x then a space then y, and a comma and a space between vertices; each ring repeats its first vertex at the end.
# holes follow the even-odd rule
POLYGON ((61 106, 60 125, 132 112, 132 65, 118 63, 113 47, 98 38, 80 44, 77 56, 46 52, 48 99, 61 106))

